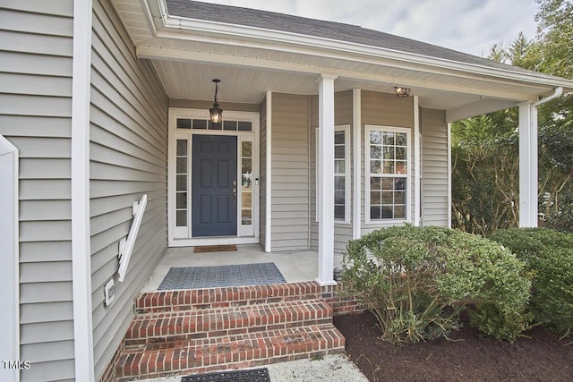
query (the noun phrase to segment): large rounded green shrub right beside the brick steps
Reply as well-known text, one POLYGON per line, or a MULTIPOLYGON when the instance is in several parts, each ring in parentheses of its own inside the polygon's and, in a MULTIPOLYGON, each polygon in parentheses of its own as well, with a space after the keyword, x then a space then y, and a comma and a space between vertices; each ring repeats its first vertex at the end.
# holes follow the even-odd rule
POLYGON ((529 281, 509 250, 439 227, 392 227, 349 242, 346 286, 393 344, 447 336, 472 306, 470 322, 513 341, 527 327, 529 281))

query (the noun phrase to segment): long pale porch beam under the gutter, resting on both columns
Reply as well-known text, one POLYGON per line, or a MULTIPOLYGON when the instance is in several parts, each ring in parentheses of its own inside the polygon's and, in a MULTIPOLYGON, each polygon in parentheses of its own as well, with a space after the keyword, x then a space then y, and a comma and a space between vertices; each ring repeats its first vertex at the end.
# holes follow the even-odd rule
MULTIPOLYGON (((316 74, 328 72, 337 75, 338 78, 345 78, 363 82, 381 82, 392 85, 409 86, 418 89, 443 90, 462 94, 472 94, 483 98, 505 98, 516 101, 533 100, 537 94, 545 92, 547 89, 539 87, 535 89, 535 96, 529 92, 509 92, 494 89, 469 88, 464 85, 452 85, 441 81, 412 80, 405 76, 390 76, 386 74, 373 74, 368 72, 354 72, 338 68, 324 68, 306 64, 284 63, 251 57, 238 57, 233 55, 216 55, 213 53, 191 52, 177 49, 165 49, 161 47, 138 46, 136 54, 139 58, 150 60, 175 60, 180 62, 190 62, 199 64, 221 64, 239 66, 249 69, 277 70, 287 72, 297 72, 301 74, 316 74)), ((378 66, 381 66, 378 64, 378 66)), ((470 79, 471 80, 471 79, 470 79)), ((515 84, 513 84, 515 85, 515 84)))

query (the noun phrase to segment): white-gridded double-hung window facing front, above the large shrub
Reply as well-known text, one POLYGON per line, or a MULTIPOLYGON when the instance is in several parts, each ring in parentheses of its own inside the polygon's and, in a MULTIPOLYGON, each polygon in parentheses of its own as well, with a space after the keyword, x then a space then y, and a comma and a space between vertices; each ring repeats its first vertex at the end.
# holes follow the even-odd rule
POLYGON ((408 220, 410 130, 366 126, 366 222, 408 220))

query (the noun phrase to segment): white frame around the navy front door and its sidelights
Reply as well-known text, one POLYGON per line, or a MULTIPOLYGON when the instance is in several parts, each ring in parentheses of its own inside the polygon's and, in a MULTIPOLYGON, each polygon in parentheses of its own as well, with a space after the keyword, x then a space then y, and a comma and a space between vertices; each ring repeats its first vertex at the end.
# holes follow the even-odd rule
MULTIPOLYGON (((252 123, 252 132, 224 131, 224 130, 193 130, 177 129, 177 119, 195 118, 208 119, 209 111, 201 109, 187 108, 169 108, 169 140, 167 147, 167 240, 169 247, 188 247, 209 244, 247 244, 259 243, 260 236, 260 155, 259 155, 259 132, 260 116, 254 112, 235 112, 225 111, 227 121, 245 121, 252 123), (196 134, 203 135, 227 135, 237 137, 237 181, 242 179, 241 174, 241 149, 243 142, 252 142, 252 227, 241 225, 241 204, 237 203, 237 234, 235 236, 213 236, 213 237, 192 237, 191 216, 187 226, 188 234, 181 235, 182 227, 175 227, 175 164, 176 164, 176 140, 187 139, 188 144, 192 143, 192 136, 196 134), (248 229, 245 229, 248 228, 248 229)), ((192 168, 192 152, 189 151, 190 163, 188 168, 192 168)), ((193 213, 191 209, 191 176, 188 177, 188 210, 189 214, 193 213)), ((239 183, 239 194, 237 200, 241 199, 241 187, 239 183)))

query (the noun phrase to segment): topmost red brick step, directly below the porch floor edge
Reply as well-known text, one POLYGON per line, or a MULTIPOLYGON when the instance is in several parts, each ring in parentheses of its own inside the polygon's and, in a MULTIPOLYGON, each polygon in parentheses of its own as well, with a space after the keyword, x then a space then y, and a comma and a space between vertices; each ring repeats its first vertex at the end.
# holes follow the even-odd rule
POLYGON ((135 311, 144 314, 204 310, 324 297, 328 296, 323 293, 321 286, 312 282, 163 291, 142 293, 135 302, 135 311))

